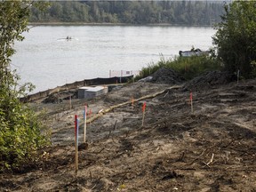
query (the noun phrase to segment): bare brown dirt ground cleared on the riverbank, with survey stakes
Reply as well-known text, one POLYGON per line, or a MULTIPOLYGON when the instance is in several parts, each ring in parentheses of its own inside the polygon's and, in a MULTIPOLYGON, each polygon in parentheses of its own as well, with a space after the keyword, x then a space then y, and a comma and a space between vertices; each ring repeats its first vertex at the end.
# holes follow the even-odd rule
POLYGON ((126 84, 94 100, 72 100, 72 108, 68 100, 33 103, 45 111, 52 147, 19 171, 1 173, 0 191, 255 192, 256 79, 238 84, 208 79, 204 86, 203 80, 181 82, 175 89, 170 88, 173 81, 126 84), (201 88, 194 90, 198 82, 201 88), (80 118, 82 144, 85 103, 91 118, 101 109, 160 91, 87 124, 87 145, 79 150, 76 174, 74 116, 80 118))

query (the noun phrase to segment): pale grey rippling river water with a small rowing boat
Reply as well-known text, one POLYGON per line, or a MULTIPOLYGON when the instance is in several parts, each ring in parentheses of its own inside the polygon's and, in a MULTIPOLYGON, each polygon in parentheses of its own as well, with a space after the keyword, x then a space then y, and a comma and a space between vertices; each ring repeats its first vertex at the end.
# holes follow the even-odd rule
POLYGON ((111 76, 115 71, 138 71, 192 46, 208 50, 214 33, 209 27, 37 26, 15 44, 12 68, 20 74, 20 83, 35 84, 34 92, 39 92, 108 77, 109 70, 111 76))

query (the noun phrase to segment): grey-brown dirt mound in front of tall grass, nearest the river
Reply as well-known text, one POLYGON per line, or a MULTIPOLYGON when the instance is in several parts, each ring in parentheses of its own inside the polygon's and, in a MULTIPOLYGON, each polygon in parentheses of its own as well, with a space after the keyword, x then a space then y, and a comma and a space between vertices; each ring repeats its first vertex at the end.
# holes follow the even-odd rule
POLYGON ((179 76, 172 68, 160 68, 153 75, 151 82, 157 84, 180 84, 184 78, 179 76))

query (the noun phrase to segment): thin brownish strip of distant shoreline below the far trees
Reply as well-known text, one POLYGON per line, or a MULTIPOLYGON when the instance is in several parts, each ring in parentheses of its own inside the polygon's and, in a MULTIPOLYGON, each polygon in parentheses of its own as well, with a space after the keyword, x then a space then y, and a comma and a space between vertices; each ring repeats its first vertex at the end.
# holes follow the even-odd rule
POLYGON ((130 23, 84 23, 84 22, 28 22, 29 26, 152 26, 152 27, 202 27, 210 28, 213 25, 184 25, 170 23, 130 24, 130 23))

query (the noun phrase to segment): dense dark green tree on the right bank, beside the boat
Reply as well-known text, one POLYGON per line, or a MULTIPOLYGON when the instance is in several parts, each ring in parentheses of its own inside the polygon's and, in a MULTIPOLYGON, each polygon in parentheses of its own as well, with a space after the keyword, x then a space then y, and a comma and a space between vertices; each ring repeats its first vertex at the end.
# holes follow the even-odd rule
POLYGON ((225 5, 222 21, 213 36, 218 57, 230 72, 240 70, 244 77, 255 76, 256 2, 235 1, 225 5))

